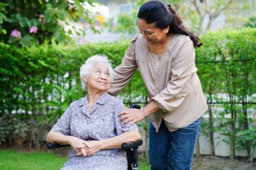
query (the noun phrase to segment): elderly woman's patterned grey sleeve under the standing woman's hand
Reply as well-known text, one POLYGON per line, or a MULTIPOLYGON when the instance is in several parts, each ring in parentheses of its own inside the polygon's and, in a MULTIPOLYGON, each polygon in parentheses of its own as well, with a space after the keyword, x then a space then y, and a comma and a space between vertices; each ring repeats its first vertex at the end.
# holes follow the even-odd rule
POLYGON ((118 116, 118 114, 120 112, 123 112, 125 110, 125 106, 123 105, 122 101, 118 101, 117 104, 115 105, 115 128, 117 130, 117 135, 123 134, 124 132, 128 132, 128 131, 135 131, 138 130, 137 125, 133 124, 131 126, 129 126, 128 122, 127 124, 122 124, 121 122, 119 122, 119 118, 120 116, 118 116))

